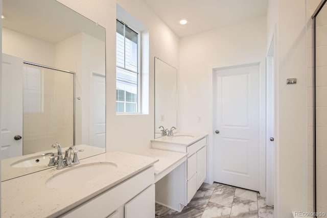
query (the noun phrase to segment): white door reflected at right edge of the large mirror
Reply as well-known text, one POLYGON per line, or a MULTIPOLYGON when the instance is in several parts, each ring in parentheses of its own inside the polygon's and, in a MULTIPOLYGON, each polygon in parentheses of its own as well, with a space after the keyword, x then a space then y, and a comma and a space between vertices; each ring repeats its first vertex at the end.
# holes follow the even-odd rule
POLYGON ((106 144, 106 78, 93 74, 92 88, 92 146, 105 148, 106 144))

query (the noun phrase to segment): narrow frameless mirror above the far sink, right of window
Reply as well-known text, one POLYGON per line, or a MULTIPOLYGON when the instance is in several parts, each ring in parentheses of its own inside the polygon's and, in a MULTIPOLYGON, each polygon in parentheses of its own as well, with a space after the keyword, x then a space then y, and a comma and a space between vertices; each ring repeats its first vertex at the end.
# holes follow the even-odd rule
POLYGON ((162 129, 177 131, 177 69, 159 58, 154 58, 154 64, 154 138, 158 138, 164 136, 162 129))

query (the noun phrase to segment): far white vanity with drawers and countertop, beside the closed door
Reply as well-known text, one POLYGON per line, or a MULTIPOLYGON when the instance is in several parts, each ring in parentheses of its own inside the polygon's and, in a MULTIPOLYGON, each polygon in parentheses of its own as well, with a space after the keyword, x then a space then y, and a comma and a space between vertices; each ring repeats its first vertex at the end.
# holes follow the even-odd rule
POLYGON ((206 178, 206 136, 207 134, 176 133, 174 136, 151 140, 153 149, 186 155, 184 165, 176 167, 171 174, 156 182, 157 203, 177 211, 190 203, 206 178), (181 175, 184 178, 181 179, 181 175), (174 184, 175 188, 167 184, 174 184), (176 186, 180 188, 176 190, 176 186), (182 198, 180 195, 183 195, 182 198), (176 199, 179 199, 179 202, 176 202, 176 199))

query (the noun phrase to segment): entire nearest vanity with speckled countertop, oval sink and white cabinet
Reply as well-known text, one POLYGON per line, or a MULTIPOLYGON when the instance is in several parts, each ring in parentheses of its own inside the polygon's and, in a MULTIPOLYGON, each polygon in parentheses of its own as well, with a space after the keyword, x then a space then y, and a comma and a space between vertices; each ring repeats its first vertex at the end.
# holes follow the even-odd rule
POLYGON ((1 216, 153 218, 157 161, 109 152, 4 181, 1 216))

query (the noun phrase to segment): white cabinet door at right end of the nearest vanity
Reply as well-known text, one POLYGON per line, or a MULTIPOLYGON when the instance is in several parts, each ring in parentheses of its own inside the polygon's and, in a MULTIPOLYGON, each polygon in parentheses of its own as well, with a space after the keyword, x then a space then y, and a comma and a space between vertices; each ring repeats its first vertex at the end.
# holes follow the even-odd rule
POLYGON ((125 218, 153 218, 155 216, 154 184, 125 204, 125 218))

